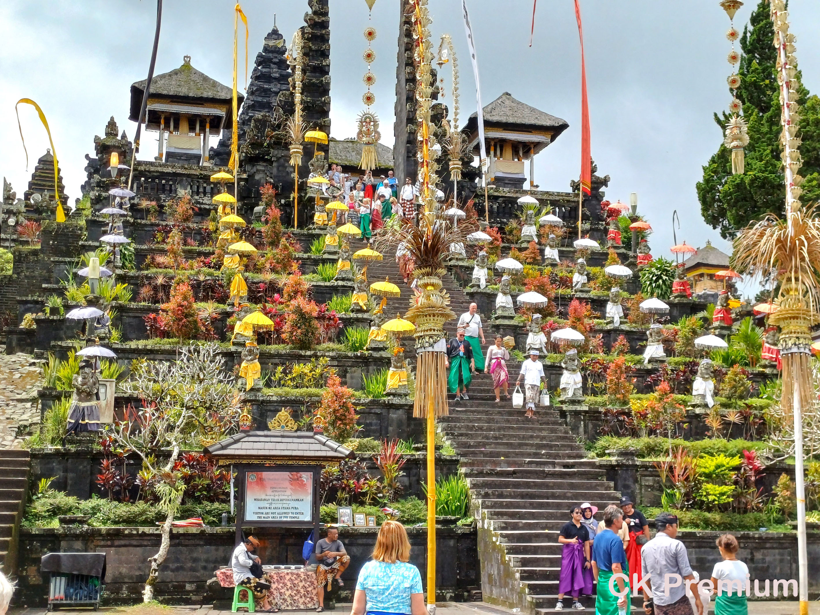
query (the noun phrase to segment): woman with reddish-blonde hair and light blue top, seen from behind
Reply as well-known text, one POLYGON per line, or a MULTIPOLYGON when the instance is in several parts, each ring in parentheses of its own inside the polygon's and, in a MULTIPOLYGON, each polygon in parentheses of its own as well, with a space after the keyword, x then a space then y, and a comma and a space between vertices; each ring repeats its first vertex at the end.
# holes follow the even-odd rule
POLYGON ((421 574, 408 563, 410 541, 401 523, 381 525, 372 557, 359 572, 350 615, 426 615, 421 574))

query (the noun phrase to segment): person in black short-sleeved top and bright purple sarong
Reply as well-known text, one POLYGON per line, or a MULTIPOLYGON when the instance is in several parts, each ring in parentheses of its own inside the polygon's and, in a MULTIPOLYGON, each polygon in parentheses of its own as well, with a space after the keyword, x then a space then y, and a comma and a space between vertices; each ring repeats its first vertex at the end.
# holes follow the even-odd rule
POLYGON ((592 595, 592 559, 590 532, 581 523, 583 512, 580 506, 570 510, 572 521, 567 522, 558 534, 558 542, 563 544, 561 553, 561 575, 558 577, 558 604, 556 611, 563 610, 564 594, 572 595, 572 608, 583 610, 578 599, 581 594, 592 595))

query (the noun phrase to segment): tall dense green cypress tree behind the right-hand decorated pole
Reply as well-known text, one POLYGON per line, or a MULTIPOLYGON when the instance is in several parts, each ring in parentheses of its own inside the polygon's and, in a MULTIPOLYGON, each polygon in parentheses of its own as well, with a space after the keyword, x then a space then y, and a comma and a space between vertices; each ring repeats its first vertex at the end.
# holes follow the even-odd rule
MULTIPOLYGON (((760 0, 740 37, 740 87, 736 96, 743 104, 743 116, 749 124, 745 173, 731 174, 731 151, 722 143, 723 131, 731 116, 727 112, 715 113, 715 123, 721 130, 721 145, 703 167, 704 178, 696 186, 704 221, 712 228, 719 228, 724 239, 733 238, 733 231, 767 213, 781 215, 784 211, 781 106, 777 48, 772 45, 773 39, 768 1, 760 0)), ((800 80, 799 73, 797 79, 800 80)), ((809 95, 802 83, 797 90, 800 137, 803 139, 800 145, 803 167, 799 174, 805 178, 800 200, 805 204, 820 198, 820 99, 809 95)))

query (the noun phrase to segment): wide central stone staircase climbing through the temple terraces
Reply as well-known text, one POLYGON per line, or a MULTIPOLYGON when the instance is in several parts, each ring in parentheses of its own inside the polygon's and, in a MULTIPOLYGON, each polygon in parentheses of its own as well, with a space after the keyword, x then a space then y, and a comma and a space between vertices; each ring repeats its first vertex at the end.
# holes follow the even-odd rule
MULTIPOLYGON (((365 247, 353 240, 351 250, 365 247)), ((389 299, 385 312, 404 314, 412 290, 403 283, 394 254, 371 262, 367 279, 399 285, 401 298, 389 299)), ((449 274, 443 278, 450 307, 457 316, 467 312, 470 299, 449 274)), ((493 337, 490 314, 482 314, 485 338, 493 337)), ((447 335, 455 335, 457 320, 445 323, 447 335)), ((412 361, 412 353, 407 357, 412 361)), ((508 362, 510 393, 521 369, 508 362)), ((453 402, 439 429, 461 457, 461 471, 470 486, 471 507, 478 524, 481 587, 486 602, 524 613, 553 612, 558 598, 561 550, 558 532, 569 521, 569 508, 590 502, 601 511, 617 503, 620 494, 606 481, 604 470, 585 458, 583 446, 552 407, 538 408, 536 418, 524 417, 512 401, 495 403, 489 374, 473 376, 469 400, 453 402)), ((597 515, 602 517, 601 512, 597 515)), ((587 611, 594 599, 582 598, 587 611)), ((564 608, 572 606, 565 599, 564 608)))

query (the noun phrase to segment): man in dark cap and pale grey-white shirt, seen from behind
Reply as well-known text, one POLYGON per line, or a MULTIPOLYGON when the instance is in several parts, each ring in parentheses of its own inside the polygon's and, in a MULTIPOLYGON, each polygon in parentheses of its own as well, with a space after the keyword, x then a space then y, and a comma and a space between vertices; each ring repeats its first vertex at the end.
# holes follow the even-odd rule
MULTIPOLYGON (((658 533, 640 550, 641 572, 645 579, 645 587, 649 587, 651 595, 644 589, 647 604, 654 607, 655 615, 693 615, 692 605, 686 597, 687 581, 695 581, 695 574, 686 554, 686 547, 680 540, 676 540, 677 517, 671 512, 661 512, 655 518, 658 533), (667 575, 672 576, 668 581, 667 575), (647 576, 651 576, 647 579, 647 576), (677 583, 677 585, 675 585, 677 583)), ((704 604, 700 599, 700 592, 695 585, 692 593, 695 594, 695 608, 698 615, 704 615, 704 604)))

